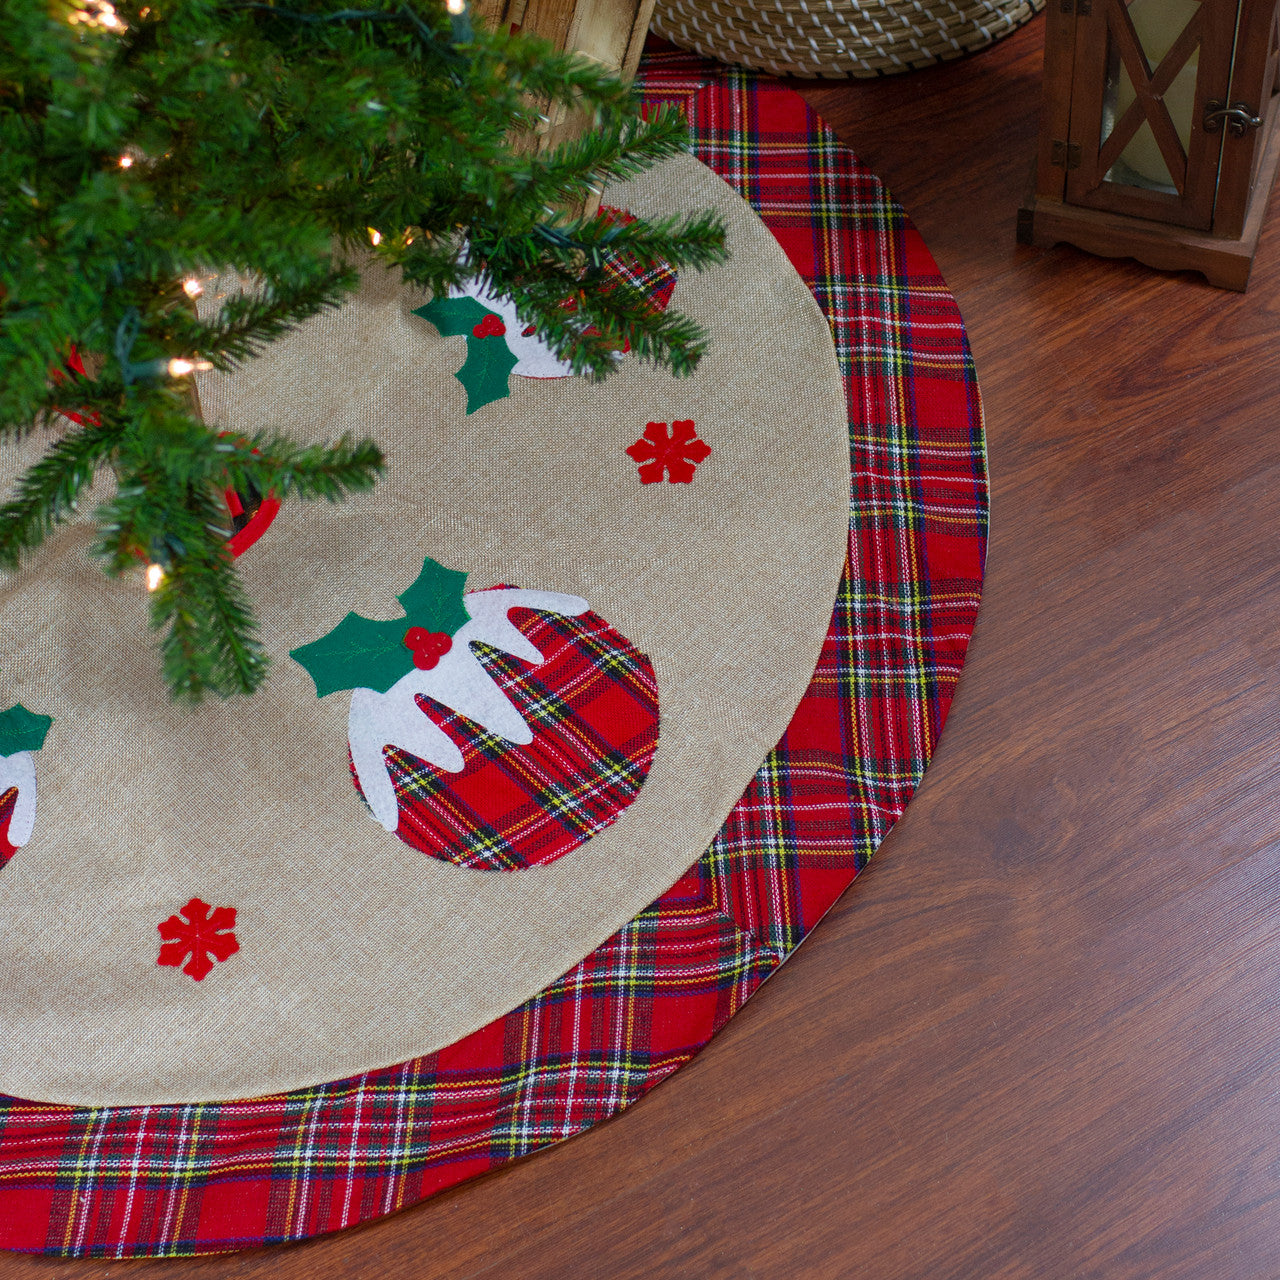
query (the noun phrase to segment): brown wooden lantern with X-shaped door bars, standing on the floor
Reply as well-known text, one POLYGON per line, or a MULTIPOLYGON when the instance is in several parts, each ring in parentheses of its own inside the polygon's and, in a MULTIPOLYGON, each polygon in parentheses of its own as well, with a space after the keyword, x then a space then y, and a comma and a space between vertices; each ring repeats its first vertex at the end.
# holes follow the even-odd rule
POLYGON ((1025 244, 1243 289, 1280 161, 1277 0, 1052 0, 1025 244))

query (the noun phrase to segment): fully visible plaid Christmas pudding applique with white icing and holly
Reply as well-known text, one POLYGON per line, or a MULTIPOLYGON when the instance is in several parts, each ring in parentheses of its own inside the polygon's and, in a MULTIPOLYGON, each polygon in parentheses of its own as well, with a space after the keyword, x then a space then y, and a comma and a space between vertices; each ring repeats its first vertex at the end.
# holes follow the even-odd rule
POLYGON ((648 776, 653 666, 580 596, 465 582, 426 559, 402 618, 348 613, 292 657, 317 696, 352 690, 351 772, 387 831, 458 867, 550 863, 648 776))

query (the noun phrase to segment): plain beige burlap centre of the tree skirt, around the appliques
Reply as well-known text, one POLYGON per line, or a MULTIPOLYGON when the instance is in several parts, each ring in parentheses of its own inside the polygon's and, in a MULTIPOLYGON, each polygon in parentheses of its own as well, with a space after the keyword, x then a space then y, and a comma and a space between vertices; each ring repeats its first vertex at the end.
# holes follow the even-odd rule
MULTIPOLYGON (((388 476, 287 504, 242 559, 271 676, 252 700, 169 704, 138 581, 69 526, 4 584, 0 709, 55 717, 31 842, 0 872, 0 1091, 122 1105, 251 1097, 448 1044, 543 988, 701 854, 787 723, 847 539, 847 421, 831 334, 781 248, 689 157, 607 195, 637 214, 717 207, 732 262, 675 305, 713 337, 698 375, 628 360, 609 381, 512 379, 465 413, 461 338, 375 269, 339 312, 233 379, 210 421, 372 435, 388 476), (692 419, 689 485, 640 485, 623 449, 692 419), (348 692, 288 650, 348 611, 398 617, 431 556, 584 596, 653 660, 658 754, 639 799, 561 860, 447 865, 370 818, 347 771, 348 692), (238 911, 202 982, 159 968, 156 925, 197 895, 238 911)), ((0 457, 12 479, 36 439, 0 457)))

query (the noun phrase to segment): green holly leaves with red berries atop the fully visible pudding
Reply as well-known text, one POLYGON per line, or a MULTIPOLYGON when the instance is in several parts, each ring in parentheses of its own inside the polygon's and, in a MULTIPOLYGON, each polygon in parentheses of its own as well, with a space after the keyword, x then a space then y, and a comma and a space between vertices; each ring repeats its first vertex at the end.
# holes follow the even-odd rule
POLYGON ((453 636, 470 614, 462 603, 467 575, 428 557, 413 585, 397 599, 404 617, 375 621, 348 613, 328 635, 289 650, 316 684, 316 698, 340 689, 372 689, 385 694, 415 666, 417 635, 453 636))

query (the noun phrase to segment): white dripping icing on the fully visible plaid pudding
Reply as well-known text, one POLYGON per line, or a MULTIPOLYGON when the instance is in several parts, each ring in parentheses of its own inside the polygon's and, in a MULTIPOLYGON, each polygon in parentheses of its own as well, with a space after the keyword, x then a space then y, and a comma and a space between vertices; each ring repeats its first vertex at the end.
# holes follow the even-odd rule
POLYGON ((481 728, 517 746, 531 742, 532 730, 471 652, 471 641, 479 640, 538 666, 543 655, 511 623, 508 611, 541 609, 576 617, 589 608, 586 600, 577 595, 524 591, 518 588, 468 591, 462 596, 462 603, 470 621, 454 632, 453 648, 430 671, 415 667, 408 675, 401 676, 385 694, 357 689, 351 695, 351 712, 347 717, 351 759, 369 808, 388 831, 394 831, 399 824, 399 809, 383 748, 398 746, 445 773, 462 771, 462 753, 434 721, 422 714, 415 698, 426 694, 449 710, 466 716, 481 728))

